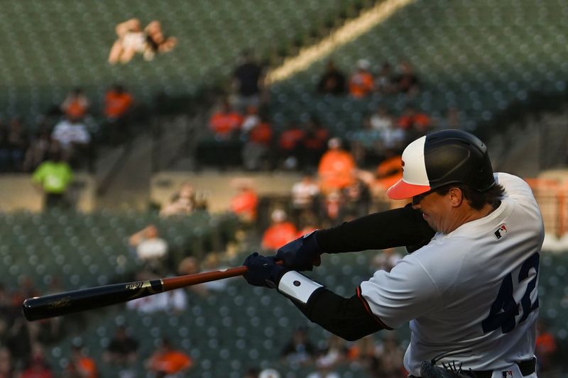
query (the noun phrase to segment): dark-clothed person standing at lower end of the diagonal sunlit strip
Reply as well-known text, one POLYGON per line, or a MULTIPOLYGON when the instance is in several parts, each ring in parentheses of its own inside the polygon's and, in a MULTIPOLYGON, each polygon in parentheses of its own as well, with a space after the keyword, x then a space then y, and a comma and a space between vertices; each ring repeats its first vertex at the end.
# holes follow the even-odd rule
POLYGON ((259 106, 263 90, 263 67, 256 62, 253 53, 245 50, 241 64, 233 72, 233 87, 236 91, 236 106, 244 111, 247 106, 259 106))

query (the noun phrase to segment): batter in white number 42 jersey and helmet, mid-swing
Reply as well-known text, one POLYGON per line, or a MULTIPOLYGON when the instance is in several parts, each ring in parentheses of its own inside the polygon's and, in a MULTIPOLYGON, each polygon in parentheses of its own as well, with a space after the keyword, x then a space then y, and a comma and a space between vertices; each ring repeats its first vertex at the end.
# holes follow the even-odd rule
POLYGON ((347 340, 409 321, 410 377, 536 377, 544 226, 530 187, 494 174, 486 145, 460 130, 410 143, 403 169, 387 194, 411 204, 317 230, 275 257, 253 253, 244 262, 247 282, 278 289, 310 321, 347 340), (299 273, 319 265, 322 253, 395 246, 414 252, 350 298, 299 273))

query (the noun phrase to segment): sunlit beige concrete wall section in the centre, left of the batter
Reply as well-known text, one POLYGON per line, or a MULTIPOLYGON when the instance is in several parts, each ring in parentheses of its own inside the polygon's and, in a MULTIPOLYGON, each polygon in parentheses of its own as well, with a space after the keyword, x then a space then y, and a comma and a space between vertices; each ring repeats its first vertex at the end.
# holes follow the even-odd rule
POLYGON ((235 184, 239 180, 251 182, 261 195, 287 195, 293 184, 301 178, 301 174, 289 172, 160 172, 151 179, 150 199, 160 206, 168 204, 182 183, 187 181, 197 192, 207 196, 209 211, 225 211, 237 193, 235 184))

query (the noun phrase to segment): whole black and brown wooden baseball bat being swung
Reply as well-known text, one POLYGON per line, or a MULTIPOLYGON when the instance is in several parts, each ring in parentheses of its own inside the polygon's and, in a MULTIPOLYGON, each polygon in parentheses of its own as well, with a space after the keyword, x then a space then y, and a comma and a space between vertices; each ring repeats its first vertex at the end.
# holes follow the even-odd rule
POLYGON ((144 296, 163 293, 164 291, 179 289, 180 287, 236 277, 245 274, 247 270, 247 267, 242 266, 215 270, 213 272, 187 274, 179 277, 104 285, 46 296, 36 296, 23 301, 23 316, 28 321, 53 318, 68 313, 124 303, 132 299, 143 298, 144 296))

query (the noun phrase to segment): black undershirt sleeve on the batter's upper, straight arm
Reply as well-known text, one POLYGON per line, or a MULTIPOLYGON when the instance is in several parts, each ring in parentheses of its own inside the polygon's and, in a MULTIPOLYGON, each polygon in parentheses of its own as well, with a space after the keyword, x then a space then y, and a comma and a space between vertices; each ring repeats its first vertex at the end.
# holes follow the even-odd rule
POLYGON ((422 218, 422 213, 407 205, 320 230, 316 238, 323 252, 340 253, 414 245, 420 247, 427 244, 434 234, 434 230, 422 218))

